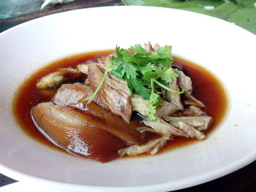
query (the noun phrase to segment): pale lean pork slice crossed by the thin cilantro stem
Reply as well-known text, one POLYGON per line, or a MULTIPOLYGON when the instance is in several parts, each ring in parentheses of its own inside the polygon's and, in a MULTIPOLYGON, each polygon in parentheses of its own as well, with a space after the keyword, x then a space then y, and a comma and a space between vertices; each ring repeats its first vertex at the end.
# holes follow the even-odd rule
MULTIPOLYGON (((105 61, 105 60, 103 60, 105 61)), ((105 62, 108 62, 107 60, 105 62)), ((95 91, 105 73, 105 64, 89 64, 88 77, 86 83, 95 91)), ((110 111, 116 115, 121 115, 129 123, 132 115, 131 91, 127 82, 118 79, 108 73, 105 81, 98 92, 99 96, 105 100, 110 111)))

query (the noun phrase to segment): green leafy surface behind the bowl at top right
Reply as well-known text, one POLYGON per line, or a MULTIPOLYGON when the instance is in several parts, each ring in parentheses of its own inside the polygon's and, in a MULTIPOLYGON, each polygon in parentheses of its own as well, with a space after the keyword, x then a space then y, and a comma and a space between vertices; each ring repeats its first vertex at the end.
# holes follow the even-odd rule
POLYGON ((256 34, 256 0, 122 0, 127 5, 171 7, 235 23, 256 34))

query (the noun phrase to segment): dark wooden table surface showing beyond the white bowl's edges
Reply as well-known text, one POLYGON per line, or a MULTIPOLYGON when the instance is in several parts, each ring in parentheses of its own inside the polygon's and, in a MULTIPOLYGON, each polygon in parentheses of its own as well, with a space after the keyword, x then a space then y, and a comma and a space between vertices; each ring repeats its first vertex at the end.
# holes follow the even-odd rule
MULTIPOLYGON (((123 5, 121 1, 118 0, 80 0, 74 1, 69 4, 56 5, 55 7, 50 7, 44 9, 41 12, 34 12, 31 14, 23 15, 17 18, 10 18, 7 20, 0 20, 0 32, 16 26, 20 23, 26 22, 34 18, 39 18, 45 15, 50 15, 56 12, 63 12, 72 9, 81 9, 86 7, 101 7, 101 6, 113 6, 113 5, 123 5)), ((256 147, 256 146, 255 146, 256 147)), ((15 183, 9 177, 0 174, 0 187, 3 185, 8 185, 10 183, 15 183)), ((225 177, 221 177, 217 180, 213 180, 208 183, 197 185, 192 188, 186 188, 179 190, 178 192, 189 192, 189 191, 256 191, 256 161, 248 166, 240 169, 232 174, 228 174, 225 177)))

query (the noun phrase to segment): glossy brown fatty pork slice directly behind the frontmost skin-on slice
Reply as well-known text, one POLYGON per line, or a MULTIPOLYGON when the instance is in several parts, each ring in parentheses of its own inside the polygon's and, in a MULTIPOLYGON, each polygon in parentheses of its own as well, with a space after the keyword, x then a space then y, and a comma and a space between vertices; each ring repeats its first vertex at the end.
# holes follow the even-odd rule
POLYGON ((137 128, 143 127, 143 123, 138 120, 131 120, 130 123, 121 118, 119 115, 115 115, 109 110, 100 107, 100 98, 94 98, 90 104, 86 105, 88 99, 91 97, 93 91, 87 85, 80 83, 65 84, 57 91, 53 97, 53 102, 58 105, 67 105, 77 107, 83 110, 86 115, 94 116, 99 120, 105 122, 106 126, 102 126, 105 130, 116 135, 131 144, 141 144, 146 142, 148 134, 140 133, 137 128), (99 104, 99 105, 98 105, 99 104))

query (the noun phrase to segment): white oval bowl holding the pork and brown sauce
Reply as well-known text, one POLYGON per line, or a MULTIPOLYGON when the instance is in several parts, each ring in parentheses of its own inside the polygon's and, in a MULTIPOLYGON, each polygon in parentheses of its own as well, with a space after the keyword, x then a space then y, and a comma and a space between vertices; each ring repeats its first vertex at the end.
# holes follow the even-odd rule
POLYGON ((78 9, 31 20, 0 34, 0 172, 61 191, 170 191, 214 180, 256 159, 254 34, 217 18, 157 7, 78 9), (31 139, 12 119, 20 82, 39 67, 73 53, 148 42, 211 70, 230 109, 203 142, 161 155, 100 164, 31 139), (237 126, 235 126, 237 125, 237 126))

